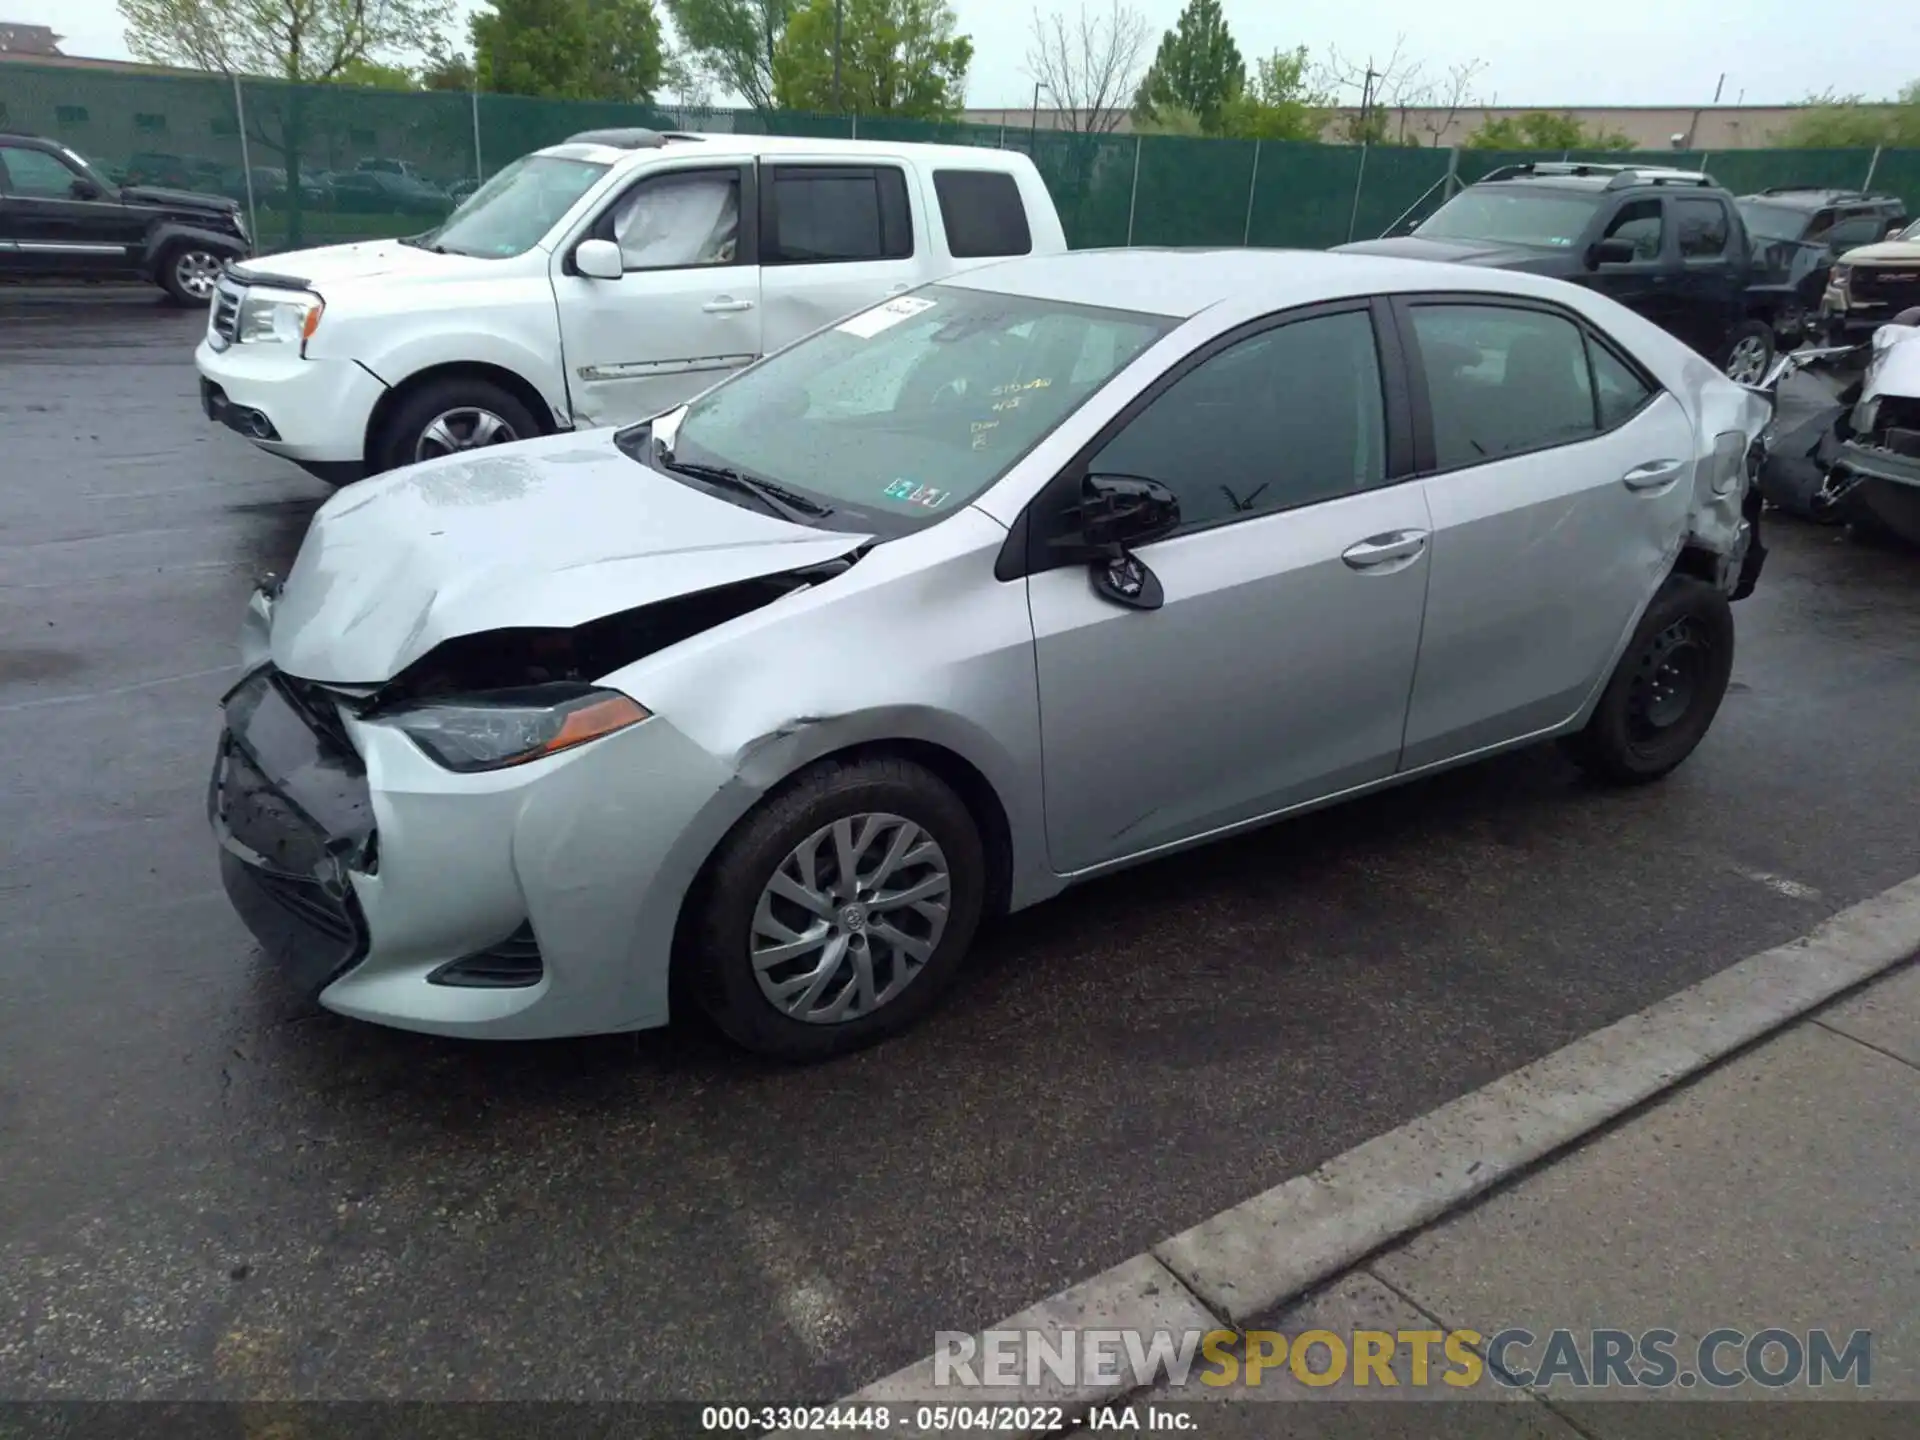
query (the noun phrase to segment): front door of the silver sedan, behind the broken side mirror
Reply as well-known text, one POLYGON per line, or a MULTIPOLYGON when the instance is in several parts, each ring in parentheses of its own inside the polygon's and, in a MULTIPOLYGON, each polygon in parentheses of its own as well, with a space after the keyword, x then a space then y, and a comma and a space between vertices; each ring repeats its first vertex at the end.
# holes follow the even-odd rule
POLYGON ((1213 342, 1029 507, 1056 870, 1394 772, 1430 522, 1419 484, 1396 482, 1411 451, 1402 390, 1382 386, 1384 317, 1354 301, 1213 342), (1139 549, 1160 609, 1121 609, 1085 564, 1048 563, 1087 474, 1158 480, 1179 497, 1181 530, 1139 549))

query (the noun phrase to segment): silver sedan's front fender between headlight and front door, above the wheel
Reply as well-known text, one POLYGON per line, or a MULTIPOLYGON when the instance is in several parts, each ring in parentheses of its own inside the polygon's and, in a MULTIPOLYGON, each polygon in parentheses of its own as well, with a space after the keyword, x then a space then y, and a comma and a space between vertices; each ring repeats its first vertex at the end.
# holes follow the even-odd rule
POLYGON ((1004 538, 968 507, 876 545, 826 584, 605 676, 724 768, 691 841, 710 851, 762 795, 826 755, 920 741, 968 760, 998 797, 1014 904, 1052 893, 1027 588, 991 580, 1004 538))

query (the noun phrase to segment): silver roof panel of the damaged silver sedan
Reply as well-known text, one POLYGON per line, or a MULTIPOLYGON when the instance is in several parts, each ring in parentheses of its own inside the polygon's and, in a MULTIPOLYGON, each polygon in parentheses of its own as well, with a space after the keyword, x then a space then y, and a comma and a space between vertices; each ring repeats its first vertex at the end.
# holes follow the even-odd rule
POLYGON ((1521 271, 1325 250, 1071 250, 996 261, 939 284, 1183 321, 1225 300, 1277 311, 1396 290, 1572 300, 1565 280, 1521 271))

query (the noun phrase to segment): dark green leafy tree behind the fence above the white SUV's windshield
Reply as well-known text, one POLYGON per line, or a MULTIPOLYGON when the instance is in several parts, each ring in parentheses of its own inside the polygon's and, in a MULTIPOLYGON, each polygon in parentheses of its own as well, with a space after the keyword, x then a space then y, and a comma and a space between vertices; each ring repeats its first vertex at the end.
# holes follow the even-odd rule
POLYGON ((472 42, 495 94, 649 104, 666 63, 653 0, 495 0, 472 42))

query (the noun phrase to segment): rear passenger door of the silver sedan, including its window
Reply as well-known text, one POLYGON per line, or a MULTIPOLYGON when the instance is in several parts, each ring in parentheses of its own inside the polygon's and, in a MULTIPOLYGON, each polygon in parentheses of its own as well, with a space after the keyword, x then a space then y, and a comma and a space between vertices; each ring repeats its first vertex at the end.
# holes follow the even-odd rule
POLYGON ((1695 444, 1686 409, 1567 311, 1396 307, 1432 515, 1417 770, 1578 712, 1686 534, 1695 444))

